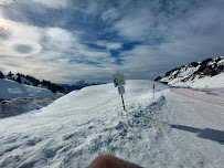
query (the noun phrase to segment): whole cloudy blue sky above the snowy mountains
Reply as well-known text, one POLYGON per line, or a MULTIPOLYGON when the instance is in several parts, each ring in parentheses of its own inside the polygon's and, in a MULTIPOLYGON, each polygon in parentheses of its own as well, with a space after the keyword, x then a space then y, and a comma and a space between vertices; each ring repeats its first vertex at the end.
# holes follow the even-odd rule
POLYGON ((0 0, 0 71, 152 80, 224 55, 224 0, 0 0))

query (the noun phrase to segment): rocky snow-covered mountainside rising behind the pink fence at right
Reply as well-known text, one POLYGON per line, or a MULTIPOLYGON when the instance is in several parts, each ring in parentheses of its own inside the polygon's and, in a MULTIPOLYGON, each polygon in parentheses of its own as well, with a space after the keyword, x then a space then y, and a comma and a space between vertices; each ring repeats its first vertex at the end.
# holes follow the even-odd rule
POLYGON ((163 77, 157 77, 156 81, 172 86, 224 87, 224 56, 173 69, 163 77))

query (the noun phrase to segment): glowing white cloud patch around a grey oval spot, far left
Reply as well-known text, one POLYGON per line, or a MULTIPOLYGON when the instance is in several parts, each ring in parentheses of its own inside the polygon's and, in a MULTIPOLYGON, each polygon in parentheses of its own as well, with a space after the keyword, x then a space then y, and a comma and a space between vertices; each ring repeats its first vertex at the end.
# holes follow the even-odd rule
POLYGON ((26 56, 41 52, 42 46, 39 44, 41 31, 39 28, 6 19, 0 19, 0 28, 10 32, 10 35, 0 41, 2 55, 26 56))

